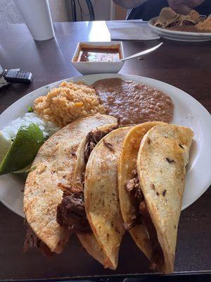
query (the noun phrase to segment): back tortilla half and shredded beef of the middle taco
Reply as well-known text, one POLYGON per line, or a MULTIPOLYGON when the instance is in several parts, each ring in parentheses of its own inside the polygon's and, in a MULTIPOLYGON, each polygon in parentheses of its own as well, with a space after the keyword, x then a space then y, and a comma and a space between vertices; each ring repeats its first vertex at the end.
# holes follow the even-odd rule
POLYGON ((87 252, 105 267, 113 268, 106 263, 106 255, 91 231, 84 207, 84 174, 89 156, 98 144, 110 131, 117 128, 117 123, 102 125, 91 130, 81 141, 75 152, 75 166, 71 177, 71 185, 63 185, 63 200, 58 204, 57 221, 60 226, 68 228, 77 234, 87 252))

